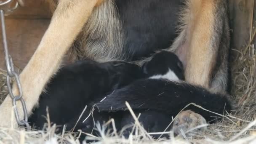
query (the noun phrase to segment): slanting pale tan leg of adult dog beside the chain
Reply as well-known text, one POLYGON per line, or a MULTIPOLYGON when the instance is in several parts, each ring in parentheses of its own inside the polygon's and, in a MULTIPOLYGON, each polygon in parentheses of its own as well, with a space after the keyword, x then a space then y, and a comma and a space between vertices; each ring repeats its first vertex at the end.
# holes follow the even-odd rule
MULTIPOLYGON (((21 72, 23 99, 30 113, 37 103, 45 84, 57 71, 61 59, 91 15, 93 8, 103 0, 59 0, 51 23, 37 50, 21 72)), ((13 93, 18 94, 16 84, 13 93)), ((23 119, 21 103, 17 102, 19 116, 23 119)), ((0 106, 0 125, 11 125, 12 100, 9 96, 0 106)), ((16 123, 14 123, 16 126, 16 123)))

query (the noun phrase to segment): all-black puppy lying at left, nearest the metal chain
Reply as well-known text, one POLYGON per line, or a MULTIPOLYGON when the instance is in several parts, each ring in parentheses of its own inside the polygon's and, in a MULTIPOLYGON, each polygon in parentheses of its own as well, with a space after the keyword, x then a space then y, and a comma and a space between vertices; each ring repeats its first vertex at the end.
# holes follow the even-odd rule
POLYGON ((61 68, 53 77, 47 85, 47 92, 40 95, 39 105, 29 122, 36 128, 43 128, 48 107, 51 122, 64 125, 80 115, 92 99, 106 96, 142 77, 142 69, 136 64, 78 61, 61 68))

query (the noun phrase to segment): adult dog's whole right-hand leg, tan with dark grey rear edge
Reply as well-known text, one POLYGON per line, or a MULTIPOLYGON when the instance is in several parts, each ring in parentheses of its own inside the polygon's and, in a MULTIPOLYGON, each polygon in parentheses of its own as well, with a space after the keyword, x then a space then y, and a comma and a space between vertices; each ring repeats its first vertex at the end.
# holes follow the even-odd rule
POLYGON ((186 0, 181 33, 171 49, 185 67, 185 79, 226 91, 229 25, 226 0, 186 0))

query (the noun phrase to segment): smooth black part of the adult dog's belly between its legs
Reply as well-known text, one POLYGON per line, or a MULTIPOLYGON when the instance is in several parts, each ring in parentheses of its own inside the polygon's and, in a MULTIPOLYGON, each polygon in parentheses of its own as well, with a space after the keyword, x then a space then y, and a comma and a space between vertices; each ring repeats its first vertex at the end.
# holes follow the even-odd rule
POLYGON ((129 60, 168 48, 176 37, 181 0, 115 0, 129 60))

